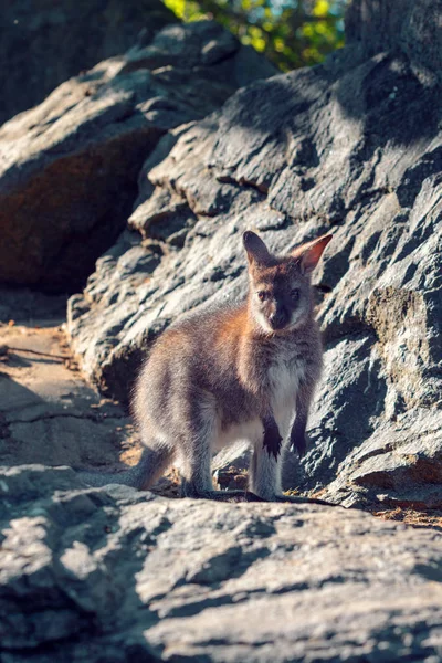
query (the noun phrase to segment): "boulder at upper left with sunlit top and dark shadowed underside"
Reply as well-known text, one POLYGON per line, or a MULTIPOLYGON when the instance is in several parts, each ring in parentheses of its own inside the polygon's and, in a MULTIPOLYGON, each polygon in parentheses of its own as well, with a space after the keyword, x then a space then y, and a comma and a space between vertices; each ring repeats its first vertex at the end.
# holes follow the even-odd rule
POLYGON ((273 72, 217 23, 171 25, 3 125, 0 282, 82 288, 123 230, 159 138, 273 72))

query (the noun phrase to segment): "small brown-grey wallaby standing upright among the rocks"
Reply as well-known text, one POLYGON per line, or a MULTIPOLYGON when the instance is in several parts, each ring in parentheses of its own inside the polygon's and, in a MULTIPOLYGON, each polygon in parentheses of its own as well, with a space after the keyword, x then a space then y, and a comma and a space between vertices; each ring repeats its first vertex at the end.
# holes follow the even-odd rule
POLYGON ((122 474, 83 473, 84 480, 147 490, 178 461, 183 496, 231 499, 213 490, 211 459, 245 439, 253 449, 245 499, 281 498, 283 446, 304 455, 322 371, 311 275, 330 239, 277 256, 244 232, 246 301, 194 314, 159 337, 135 388, 141 460, 122 474))

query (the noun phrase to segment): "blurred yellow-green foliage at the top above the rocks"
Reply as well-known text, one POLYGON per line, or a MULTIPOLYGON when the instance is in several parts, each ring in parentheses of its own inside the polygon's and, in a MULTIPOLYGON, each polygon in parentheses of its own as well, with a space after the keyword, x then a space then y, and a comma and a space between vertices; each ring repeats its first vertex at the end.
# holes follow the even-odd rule
POLYGON ((179 18, 212 18, 283 71, 317 64, 344 45, 347 0, 164 0, 179 18))

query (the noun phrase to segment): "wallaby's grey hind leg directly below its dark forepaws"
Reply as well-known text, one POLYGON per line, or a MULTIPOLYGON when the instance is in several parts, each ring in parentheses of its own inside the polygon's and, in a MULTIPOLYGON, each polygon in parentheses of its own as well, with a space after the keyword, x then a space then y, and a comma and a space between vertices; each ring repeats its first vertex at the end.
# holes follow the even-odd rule
POLYGON ((249 469, 249 487, 262 499, 273 502, 282 495, 281 469, 282 453, 275 459, 263 446, 263 441, 255 442, 249 469))

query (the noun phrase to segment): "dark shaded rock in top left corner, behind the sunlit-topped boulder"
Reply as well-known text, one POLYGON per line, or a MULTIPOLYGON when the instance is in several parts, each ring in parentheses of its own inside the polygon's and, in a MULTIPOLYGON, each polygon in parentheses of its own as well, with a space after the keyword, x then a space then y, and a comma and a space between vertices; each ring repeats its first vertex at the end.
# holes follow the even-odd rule
POLYGON ((160 0, 9 0, 0 8, 0 124, 176 18, 160 0), (141 34, 140 34, 141 33, 141 34))

